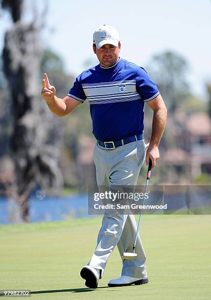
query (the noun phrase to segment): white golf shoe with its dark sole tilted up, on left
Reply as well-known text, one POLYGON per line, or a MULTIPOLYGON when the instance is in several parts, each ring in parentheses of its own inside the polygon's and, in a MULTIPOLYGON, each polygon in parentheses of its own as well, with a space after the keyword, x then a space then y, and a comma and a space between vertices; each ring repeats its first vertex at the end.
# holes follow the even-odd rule
POLYGON ((86 280, 85 285, 91 289, 96 289, 99 279, 101 279, 102 270, 94 269, 91 266, 85 266, 81 270, 81 277, 86 280))

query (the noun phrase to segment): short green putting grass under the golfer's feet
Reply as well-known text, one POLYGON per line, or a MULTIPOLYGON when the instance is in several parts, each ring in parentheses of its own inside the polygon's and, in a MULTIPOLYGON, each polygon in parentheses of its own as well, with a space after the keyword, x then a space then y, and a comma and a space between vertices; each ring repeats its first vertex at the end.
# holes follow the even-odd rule
POLYGON ((121 273, 117 249, 96 290, 79 273, 95 248, 101 219, 0 226, 0 289, 32 299, 211 299, 211 216, 143 216, 149 284, 109 288, 121 273))

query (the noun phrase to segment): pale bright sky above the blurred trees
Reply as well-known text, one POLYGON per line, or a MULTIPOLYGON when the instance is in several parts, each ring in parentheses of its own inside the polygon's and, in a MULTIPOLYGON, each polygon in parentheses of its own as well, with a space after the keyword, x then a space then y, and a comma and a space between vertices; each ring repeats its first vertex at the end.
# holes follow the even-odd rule
MULTIPOLYGON (((205 82, 211 80, 211 0, 25 0, 26 22, 31 3, 44 11, 42 46, 61 55, 67 72, 77 76, 87 69, 87 60, 97 63, 94 29, 112 25, 119 32, 121 57, 142 67, 165 50, 182 55, 189 64, 192 93, 206 99, 205 82)), ((1 12, 0 52, 10 26, 9 15, 1 12)))

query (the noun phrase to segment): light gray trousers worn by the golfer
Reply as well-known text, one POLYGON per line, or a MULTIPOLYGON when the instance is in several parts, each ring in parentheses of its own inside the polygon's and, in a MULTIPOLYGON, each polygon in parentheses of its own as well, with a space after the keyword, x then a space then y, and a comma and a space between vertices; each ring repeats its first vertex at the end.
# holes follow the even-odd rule
MULTIPOLYGON (((105 149, 97 143, 94 149, 97 185, 102 186, 135 186, 145 160, 147 146, 144 140, 135 141, 113 150, 105 149)), ((97 246, 89 262, 91 267, 105 270, 107 260, 117 245, 119 254, 133 252, 137 224, 133 214, 124 214, 107 210, 102 219, 102 226, 97 237, 97 246)), ((137 238, 136 259, 122 260, 122 273, 136 278, 146 278, 146 256, 140 235, 137 238)))

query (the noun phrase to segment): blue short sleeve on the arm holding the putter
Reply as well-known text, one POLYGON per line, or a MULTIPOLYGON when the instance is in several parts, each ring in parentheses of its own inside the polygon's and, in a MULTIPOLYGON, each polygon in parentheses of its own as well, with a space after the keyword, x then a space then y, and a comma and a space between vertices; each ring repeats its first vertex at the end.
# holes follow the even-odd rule
POLYGON ((150 101, 160 94, 157 85, 143 68, 139 68, 136 75, 136 90, 144 102, 150 101))

